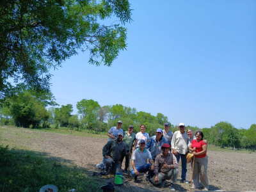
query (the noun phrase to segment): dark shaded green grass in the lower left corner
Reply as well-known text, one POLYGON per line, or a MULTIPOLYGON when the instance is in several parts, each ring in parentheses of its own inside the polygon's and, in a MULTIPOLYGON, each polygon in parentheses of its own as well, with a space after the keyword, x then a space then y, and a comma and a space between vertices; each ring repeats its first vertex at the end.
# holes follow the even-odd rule
POLYGON ((105 184, 84 168, 60 164, 45 154, 4 149, 4 157, 8 157, 8 161, 2 161, 2 157, 0 191, 39 191, 46 184, 58 186, 59 191, 100 191, 105 184))

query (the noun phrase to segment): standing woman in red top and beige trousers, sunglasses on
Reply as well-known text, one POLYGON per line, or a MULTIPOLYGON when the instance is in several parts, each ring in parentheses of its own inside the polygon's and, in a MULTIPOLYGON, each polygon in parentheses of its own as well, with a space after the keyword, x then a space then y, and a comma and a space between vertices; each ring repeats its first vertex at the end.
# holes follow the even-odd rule
POLYGON ((207 176, 207 166, 208 166, 208 156, 207 143, 203 142, 204 134, 201 131, 197 131, 196 140, 191 141, 189 150, 191 150, 195 156, 194 170, 193 170, 193 186, 192 189, 197 189, 199 187, 199 179, 204 187, 205 191, 209 189, 208 176, 207 176))

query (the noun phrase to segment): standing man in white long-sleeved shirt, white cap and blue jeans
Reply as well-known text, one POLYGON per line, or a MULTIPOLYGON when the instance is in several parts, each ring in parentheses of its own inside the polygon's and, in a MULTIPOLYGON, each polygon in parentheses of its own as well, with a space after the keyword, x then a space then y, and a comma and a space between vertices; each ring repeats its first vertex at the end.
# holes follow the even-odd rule
POLYGON ((188 142, 189 137, 185 132, 185 124, 179 124, 179 131, 175 131, 172 136, 172 152, 177 158, 177 162, 181 158, 181 182, 186 182, 186 173, 187 173, 187 159, 186 155, 188 154, 188 142))

